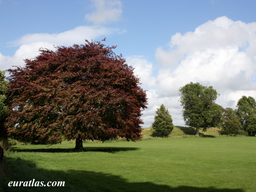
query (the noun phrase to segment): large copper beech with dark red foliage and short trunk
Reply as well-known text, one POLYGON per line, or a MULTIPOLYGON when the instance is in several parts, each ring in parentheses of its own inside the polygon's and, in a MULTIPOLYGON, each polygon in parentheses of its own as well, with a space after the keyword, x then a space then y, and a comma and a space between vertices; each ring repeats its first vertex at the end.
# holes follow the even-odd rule
POLYGON ((146 91, 133 68, 102 42, 40 49, 24 68, 9 69, 8 134, 22 142, 141 138, 146 91))

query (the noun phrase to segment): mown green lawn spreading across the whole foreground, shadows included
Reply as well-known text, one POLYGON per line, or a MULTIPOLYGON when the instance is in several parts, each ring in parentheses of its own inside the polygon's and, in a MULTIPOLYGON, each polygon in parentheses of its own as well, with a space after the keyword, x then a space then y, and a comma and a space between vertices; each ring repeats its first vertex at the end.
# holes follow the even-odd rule
POLYGON ((0 191, 256 191, 255 137, 87 142, 84 152, 73 148, 71 142, 48 148, 17 144, 5 154, 0 191), (10 181, 32 179, 65 181, 65 186, 7 186, 10 181))

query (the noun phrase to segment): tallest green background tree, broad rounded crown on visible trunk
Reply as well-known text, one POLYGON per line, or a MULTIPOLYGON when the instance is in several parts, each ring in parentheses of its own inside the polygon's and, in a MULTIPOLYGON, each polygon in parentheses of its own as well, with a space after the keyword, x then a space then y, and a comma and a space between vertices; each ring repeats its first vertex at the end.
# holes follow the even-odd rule
POLYGON ((218 93, 212 86, 190 82, 179 91, 185 124, 195 127, 196 135, 199 136, 199 128, 206 130, 208 127, 218 126, 223 108, 214 103, 218 93))

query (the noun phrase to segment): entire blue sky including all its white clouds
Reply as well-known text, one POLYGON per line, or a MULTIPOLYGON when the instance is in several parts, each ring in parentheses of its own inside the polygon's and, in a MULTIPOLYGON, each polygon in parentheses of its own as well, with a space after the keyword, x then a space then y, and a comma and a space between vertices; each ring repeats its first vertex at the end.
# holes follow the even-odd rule
POLYGON ((256 98, 255 8, 255 0, 0 0, 0 70, 40 47, 106 37, 148 90, 144 127, 162 103, 184 125, 178 88, 190 81, 214 86, 224 107, 256 98))

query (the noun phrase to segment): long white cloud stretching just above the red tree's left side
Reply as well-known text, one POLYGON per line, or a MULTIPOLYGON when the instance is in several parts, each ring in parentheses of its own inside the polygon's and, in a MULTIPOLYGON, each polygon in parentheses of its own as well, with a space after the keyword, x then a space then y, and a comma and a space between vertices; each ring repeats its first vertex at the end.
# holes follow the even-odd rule
POLYGON ((53 50, 55 46, 72 46, 73 44, 84 44, 84 40, 92 40, 100 36, 107 36, 121 31, 116 28, 103 26, 78 26, 56 34, 35 33, 26 34, 14 42, 9 42, 10 46, 19 46, 13 56, 3 56, 0 53, 0 69, 6 70, 12 66, 24 66, 24 59, 34 58, 38 55, 39 48, 53 50))

